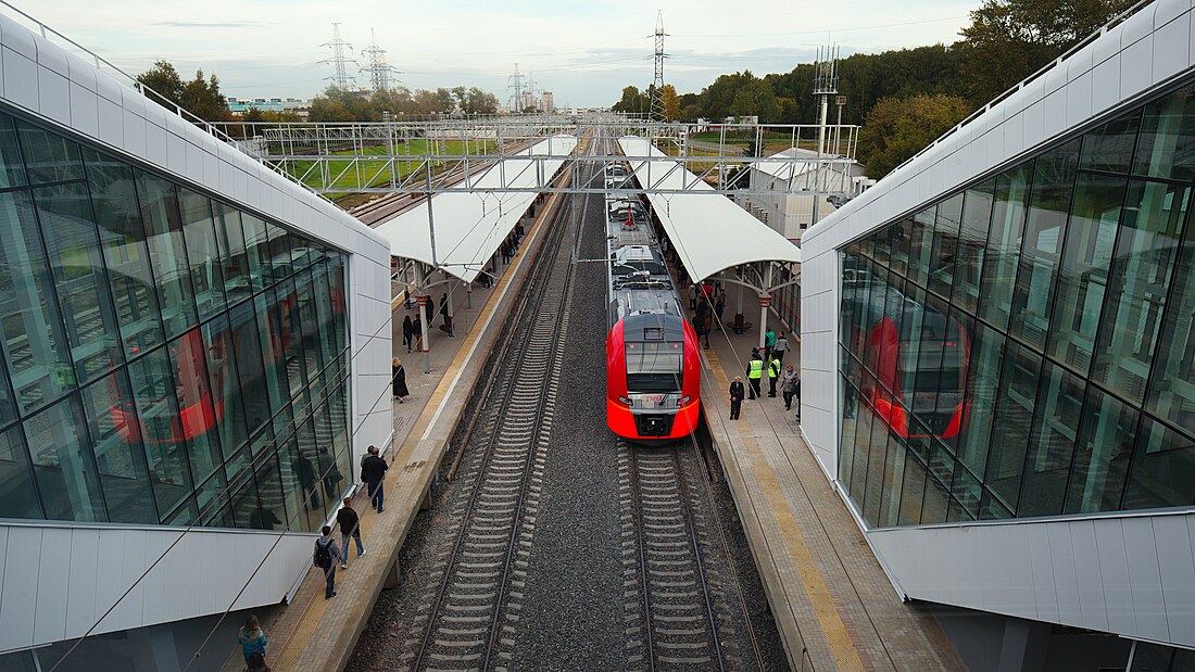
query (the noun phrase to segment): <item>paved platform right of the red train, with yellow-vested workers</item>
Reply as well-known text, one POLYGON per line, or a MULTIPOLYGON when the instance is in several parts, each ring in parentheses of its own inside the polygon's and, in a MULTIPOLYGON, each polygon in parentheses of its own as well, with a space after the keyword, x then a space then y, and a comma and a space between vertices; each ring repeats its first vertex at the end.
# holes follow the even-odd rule
MULTIPOLYGON (((764 396, 729 420, 730 381, 746 384, 758 341, 758 327, 711 334, 701 400, 791 668, 964 670, 933 616, 893 590, 802 439, 796 400, 785 411, 765 378, 764 396)), ((790 343, 785 365, 801 356, 790 343)))

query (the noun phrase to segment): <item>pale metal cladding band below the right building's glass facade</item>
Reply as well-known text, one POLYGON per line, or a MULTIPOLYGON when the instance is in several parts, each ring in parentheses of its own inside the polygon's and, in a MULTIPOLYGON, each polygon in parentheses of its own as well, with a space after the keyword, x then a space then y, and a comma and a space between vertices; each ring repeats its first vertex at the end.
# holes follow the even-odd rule
POLYGON ((1195 646, 1195 512, 866 532, 911 598, 1195 646))

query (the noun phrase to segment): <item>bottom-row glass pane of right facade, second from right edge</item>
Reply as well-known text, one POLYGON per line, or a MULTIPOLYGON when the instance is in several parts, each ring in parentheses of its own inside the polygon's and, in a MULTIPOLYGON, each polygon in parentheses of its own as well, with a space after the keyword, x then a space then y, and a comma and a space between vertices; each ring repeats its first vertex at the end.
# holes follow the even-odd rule
POLYGON ((1066 513, 1120 508, 1136 438, 1136 409, 1091 387, 1071 469, 1066 513))

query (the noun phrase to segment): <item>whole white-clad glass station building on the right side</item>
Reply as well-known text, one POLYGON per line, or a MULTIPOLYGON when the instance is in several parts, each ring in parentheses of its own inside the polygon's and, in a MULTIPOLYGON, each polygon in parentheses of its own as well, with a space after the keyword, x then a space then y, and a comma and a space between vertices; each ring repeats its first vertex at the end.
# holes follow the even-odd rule
POLYGON ((803 432, 978 670, 1195 665, 1193 38, 1146 6, 803 236, 803 432))

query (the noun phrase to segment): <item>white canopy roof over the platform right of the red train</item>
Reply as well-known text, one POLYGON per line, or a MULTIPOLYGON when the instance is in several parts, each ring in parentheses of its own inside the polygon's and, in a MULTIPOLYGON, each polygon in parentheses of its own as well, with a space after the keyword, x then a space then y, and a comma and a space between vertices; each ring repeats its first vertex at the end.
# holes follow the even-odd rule
MULTIPOLYGON (((642 137, 618 141, 627 156, 666 156, 642 137)), ((676 161, 632 160, 644 189, 713 189, 676 161)), ((695 283, 718 271, 752 261, 801 261, 801 249, 725 196, 713 193, 654 195, 648 199, 695 283)))

